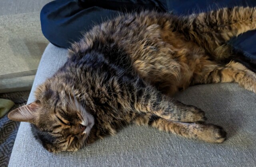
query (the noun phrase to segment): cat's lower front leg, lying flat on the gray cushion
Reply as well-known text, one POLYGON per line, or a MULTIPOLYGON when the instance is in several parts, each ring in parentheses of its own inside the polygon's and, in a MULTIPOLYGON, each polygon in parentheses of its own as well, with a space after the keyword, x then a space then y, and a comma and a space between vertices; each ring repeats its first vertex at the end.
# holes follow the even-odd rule
POLYGON ((137 125, 146 125, 158 130, 171 132, 185 138, 199 139, 210 143, 222 143, 226 132, 220 126, 213 124, 182 123, 163 119, 154 114, 142 114, 134 119, 137 125))

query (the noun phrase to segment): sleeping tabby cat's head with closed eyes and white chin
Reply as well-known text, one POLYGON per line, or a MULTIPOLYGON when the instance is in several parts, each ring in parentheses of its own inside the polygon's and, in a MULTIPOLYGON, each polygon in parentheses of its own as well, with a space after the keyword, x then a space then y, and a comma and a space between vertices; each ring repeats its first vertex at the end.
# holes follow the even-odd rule
POLYGON ((8 114, 14 121, 30 122, 33 133, 50 152, 76 151, 86 144, 94 125, 85 102, 65 84, 45 83, 36 100, 8 114))

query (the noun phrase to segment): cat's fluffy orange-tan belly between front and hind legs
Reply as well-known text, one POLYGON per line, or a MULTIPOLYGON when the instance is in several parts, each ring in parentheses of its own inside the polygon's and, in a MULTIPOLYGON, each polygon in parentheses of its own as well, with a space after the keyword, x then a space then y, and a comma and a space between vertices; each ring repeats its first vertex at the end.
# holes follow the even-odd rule
POLYGON ((172 32, 169 36, 162 35, 159 42, 161 46, 148 48, 149 54, 137 57, 134 67, 142 79, 172 96, 190 85, 207 56, 196 43, 185 41, 183 36, 172 32))

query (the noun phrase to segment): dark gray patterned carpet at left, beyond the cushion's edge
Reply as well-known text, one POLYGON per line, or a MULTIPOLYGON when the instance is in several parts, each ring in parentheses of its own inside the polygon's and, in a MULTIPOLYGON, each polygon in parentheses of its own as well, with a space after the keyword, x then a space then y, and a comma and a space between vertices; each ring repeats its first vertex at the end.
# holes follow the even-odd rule
MULTIPOLYGON (((0 98, 15 102, 11 110, 18 108, 28 100, 30 91, 12 92, 0 94, 0 98)), ((18 132, 20 123, 9 120, 7 114, 0 118, 0 166, 8 166, 12 147, 18 132)))

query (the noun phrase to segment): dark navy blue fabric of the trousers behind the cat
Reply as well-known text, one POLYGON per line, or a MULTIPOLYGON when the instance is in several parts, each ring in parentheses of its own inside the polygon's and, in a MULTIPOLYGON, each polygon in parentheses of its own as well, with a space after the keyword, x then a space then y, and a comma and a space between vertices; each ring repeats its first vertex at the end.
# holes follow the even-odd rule
MULTIPOLYGON (((69 48, 81 32, 90 30, 118 15, 118 12, 158 10, 174 14, 206 12, 221 7, 256 6, 256 0, 55 0, 42 8, 40 19, 44 36, 54 45, 69 48)), ((256 60, 256 31, 230 40, 237 50, 256 60)))

